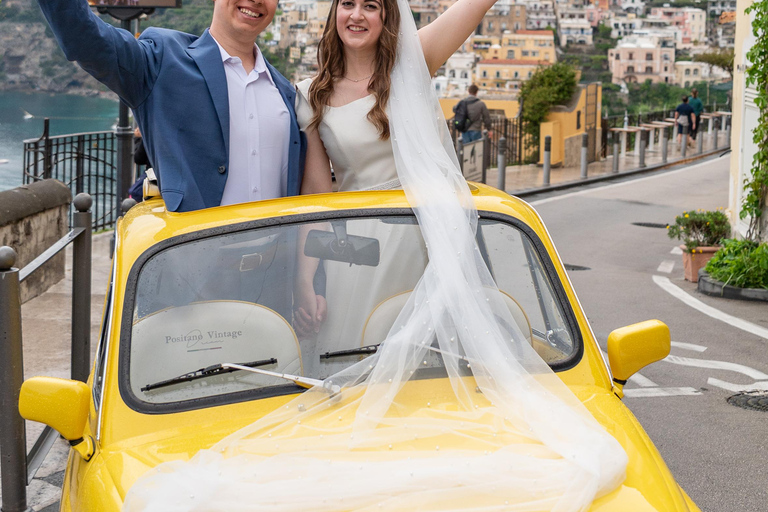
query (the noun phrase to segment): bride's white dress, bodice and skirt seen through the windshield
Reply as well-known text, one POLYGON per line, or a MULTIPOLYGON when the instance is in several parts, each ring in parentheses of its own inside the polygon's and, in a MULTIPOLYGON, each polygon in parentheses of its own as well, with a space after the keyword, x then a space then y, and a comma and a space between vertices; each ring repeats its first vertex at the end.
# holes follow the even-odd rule
MULTIPOLYGON (((303 131, 313 116, 309 105, 311 83, 312 79, 307 79, 296 86, 296 116, 303 131)), ((329 107, 318 127, 339 192, 400 188, 392 142, 381 140, 366 117, 374 102, 371 94, 340 107, 329 107)), ((361 346, 369 314, 386 299, 413 290, 428 261, 416 224, 348 221, 347 230, 350 235, 379 240, 380 261, 376 267, 351 268, 346 263, 323 262, 328 315, 316 336, 301 340, 305 368, 313 377, 325 378, 349 366, 348 358, 320 360, 318 356, 361 346)))

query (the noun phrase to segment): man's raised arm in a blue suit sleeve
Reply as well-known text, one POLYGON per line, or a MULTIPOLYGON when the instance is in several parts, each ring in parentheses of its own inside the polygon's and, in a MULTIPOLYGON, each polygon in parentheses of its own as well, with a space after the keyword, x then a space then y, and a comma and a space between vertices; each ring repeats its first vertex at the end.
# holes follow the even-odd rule
POLYGON ((40 9, 70 61, 120 96, 131 108, 152 90, 162 47, 141 41, 102 21, 86 0, 38 0, 40 9))

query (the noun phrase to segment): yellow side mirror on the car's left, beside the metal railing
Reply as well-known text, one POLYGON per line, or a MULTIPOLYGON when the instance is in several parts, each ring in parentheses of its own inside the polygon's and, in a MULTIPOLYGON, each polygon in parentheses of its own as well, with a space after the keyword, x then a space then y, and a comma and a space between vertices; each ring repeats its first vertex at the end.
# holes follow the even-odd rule
POLYGON ((77 380, 32 377, 21 385, 19 414, 50 426, 68 441, 83 437, 89 405, 90 388, 77 380))

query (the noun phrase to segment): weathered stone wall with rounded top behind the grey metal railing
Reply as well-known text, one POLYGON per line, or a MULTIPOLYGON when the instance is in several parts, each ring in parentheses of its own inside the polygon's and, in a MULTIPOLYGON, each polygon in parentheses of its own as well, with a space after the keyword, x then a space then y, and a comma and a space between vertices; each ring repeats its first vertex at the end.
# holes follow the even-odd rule
MULTIPOLYGON (((0 246, 12 247, 23 268, 68 231, 69 188, 43 180, 0 192, 0 246)), ((21 302, 37 297, 64 278, 64 252, 21 283, 21 302)))

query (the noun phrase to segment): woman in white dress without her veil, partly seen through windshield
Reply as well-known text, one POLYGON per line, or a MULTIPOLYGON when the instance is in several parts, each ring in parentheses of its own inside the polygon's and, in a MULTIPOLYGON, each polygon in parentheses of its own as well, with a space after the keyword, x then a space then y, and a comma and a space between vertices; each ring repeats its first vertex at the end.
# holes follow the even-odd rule
MULTIPOLYGON (((495 1, 456 2, 418 31, 430 76, 467 40, 495 1)), ((410 15, 410 10, 405 12, 410 15)), ((333 2, 318 46, 318 74, 296 86, 296 115, 307 136, 302 194, 331 192, 331 164, 340 192, 400 188, 387 116, 400 24, 397 0, 333 2)), ((396 236, 404 230, 395 231, 396 236)), ((354 338, 362 331, 365 315, 355 314, 339 303, 348 301, 350 294, 337 289, 345 286, 336 279, 338 274, 344 276, 346 284, 369 284, 363 293, 355 294, 362 301, 356 304, 360 311, 371 311, 387 297, 414 287, 426 266, 426 255, 414 250, 419 245, 414 237, 419 233, 405 231, 406 239, 398 241, 392 240, 392 229, 386 226, 365 233, 389 240, 384 244, 386 253, 382 254, 378 272, 371 268, 334 268, 341 265, 325 262, 329 283, 325 297, 315 295, 312 287, 318 262, 302 261, 296 283, 294 327, 300 335, 313 337, 311 348, 320 353, 345 348, 338 334, 343 331, 345 337, 354 338), (402 268, 402 261, 411 264, 402 268), (387 272, 383 265, 400 268, 387 272), (398 275, 398 280, 382 283, 377 275, 388 275, 390 279, 398 275), (330 313, 325 299, 331 303, 330 313)))

